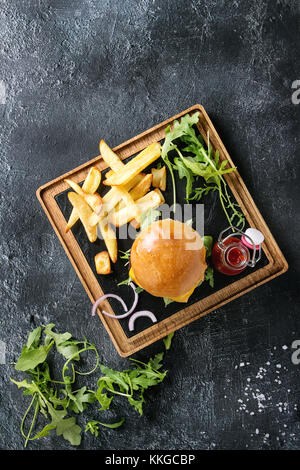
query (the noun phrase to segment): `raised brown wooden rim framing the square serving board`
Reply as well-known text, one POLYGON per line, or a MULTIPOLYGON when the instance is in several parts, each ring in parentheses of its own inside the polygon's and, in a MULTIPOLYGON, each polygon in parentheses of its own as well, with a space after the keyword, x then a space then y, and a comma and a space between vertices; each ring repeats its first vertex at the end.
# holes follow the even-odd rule
MULTIPOLYGON (((172 116, 167 121, 152 127, 127 142, 124 142, 114 148, 114 151, 122 160, 126 159, 141 151, 152 142, 162 140, 164 138, 165 128, 171 124, 174 119, 178 119, 187 113, 193 113, 196 111, 200 112, 198 128, 203 137, 206 139, 207 131, 209 130, 211 145, 214 149, 219 149, 220 160, 228 160, 229 164, 234 166, 211 120, 203 106, 199 104, 186 109, 176 116, 172 116)), ((65 178, 71 177, 74 181, 80 183, 85 179, 90 167, 94 165, 97 165, 100 170, 107 168, 107 165, 102 160, 101 156, 97 156, 74 170, 41 186, 36 193, 38 200, 49 218, 92 303, 103 295, 100 285, 101 277, 99 276, 99 278, 96 278, 94 275, 91 266, 88 264, 87 259, 81 251, 72 231, 69 231, 68 233, 65 232, 66 219, 55 200, 55 196, 68 189, 67 184, 64 182, 65 178)), ((258 287, 259 285, 270 281, 274 277, 283 274, 288 269, 288 264, 282 252, 257 209, 238 171, 236 170, 226 175, 225 178, 236 201, 245 214, 248 224, 263 232, 265 236, 263 252, 268 259, 268 264, 242 279, 232 282, 225 288, 214 291, 211 295, 205 297, 201 301, 183 308, 177 313, 159 321, 131 338, 128 338, 125 335, 119 321, 102 315, 99 310, 99 317, 121 356, 127 357, 135 353, 149 344, 165 337, 169 333, 182 328, 199 317, 216 310, 231 300, 249 292, 255 287, 258 287)), ((110 313, 114 313, 108 301, 105 302, 105 310, 110 313)))

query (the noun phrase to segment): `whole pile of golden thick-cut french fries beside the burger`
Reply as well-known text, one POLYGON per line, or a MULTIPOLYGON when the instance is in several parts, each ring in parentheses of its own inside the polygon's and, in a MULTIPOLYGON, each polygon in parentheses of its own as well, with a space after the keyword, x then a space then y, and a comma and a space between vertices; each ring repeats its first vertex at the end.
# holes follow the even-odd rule
POLYGON ((103 197, 97 192, 102 175, 95 166, 89 170, 82 187, 71 179, 65 179, 73 189, 68 193, 73 209, 66 232, 80 220, 89 241, 93 243, 98 238, 98 227, 107 251, 95 256, 96 271, 98 274, 109 274, 111 261, 115 263, 118 258, 118 242, 113 226, 131 223, 137 229, 144 213, 165 202, 161 191, 166 189, 166 167, 153 168, 149 174, 143 173, 161 155, 158 142, 150 144, 127 164, 104 140, 101 140, 99 149, 110 168, 103 181, 110 189, 103 197), (151 186, 155 189, 151 190, 151 186))

